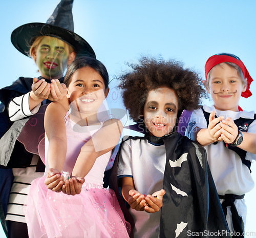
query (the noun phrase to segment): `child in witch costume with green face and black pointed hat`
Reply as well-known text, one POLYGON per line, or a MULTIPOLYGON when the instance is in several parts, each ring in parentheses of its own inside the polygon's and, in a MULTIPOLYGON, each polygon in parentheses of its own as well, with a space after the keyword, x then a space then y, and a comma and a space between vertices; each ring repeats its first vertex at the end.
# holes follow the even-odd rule
MULTIPOLYGON (((40 77, 20 77, 11 86, 0 90, 2 135, 12 125, 0 142, 1 165, 13 168, 14 175, 6 217, 9 237, 27 237, 24 200, 32 180, 42 176, 44 172, 40 158, 28 153, 16 139, 28 117, 37 113, 42 104, 58 101, 66 96, 66 86, 61 83, 68 64, 76 56, 89 55, 95 58, 88 42, 74 33, 72 5, 73 1, 62 0, 46 24, 25 24, 15 29, 11 35, 14 47, 34 59, 40 77), (15 122, 12 124, 11 121, 15 122), (11 141, 11 144, 7 145, 6 141, 11 141)), ((1 174, 4 175, 7 171, 10 172, 1 169, 1 174)), ((7 194, 8 188, 5 187, 1 194, 5 214, 7 194)))

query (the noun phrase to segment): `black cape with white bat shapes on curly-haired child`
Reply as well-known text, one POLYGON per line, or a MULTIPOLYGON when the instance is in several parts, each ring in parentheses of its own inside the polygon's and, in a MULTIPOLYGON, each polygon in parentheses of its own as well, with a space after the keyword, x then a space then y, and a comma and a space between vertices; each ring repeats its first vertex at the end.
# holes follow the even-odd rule
MULTIPOLYGON (((230 237, 202 146, 179 133, 161 138, 145 136, 127 139, 145 139, 165 145, 163 189, 166 193, 161 209, 160 238, 230 237)), ((118 159, 112 168, 110 188, 115 190, 124 217, 133 227, 131 214, 118 190, 117 163, 118 159)), ((133 237, 132 234, 130 237, 133 237)))

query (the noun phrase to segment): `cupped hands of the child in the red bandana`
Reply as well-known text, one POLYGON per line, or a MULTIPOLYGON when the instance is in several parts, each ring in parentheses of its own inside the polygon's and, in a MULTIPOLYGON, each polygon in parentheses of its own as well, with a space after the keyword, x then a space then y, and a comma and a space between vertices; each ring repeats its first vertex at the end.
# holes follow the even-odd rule
POLYGON ((215 118, 215 111, 209 116, 208 133, 212 141, 224 141, 227 144, 233 143, 238 136, 238 127, 234 121, 223 116, 215 118))

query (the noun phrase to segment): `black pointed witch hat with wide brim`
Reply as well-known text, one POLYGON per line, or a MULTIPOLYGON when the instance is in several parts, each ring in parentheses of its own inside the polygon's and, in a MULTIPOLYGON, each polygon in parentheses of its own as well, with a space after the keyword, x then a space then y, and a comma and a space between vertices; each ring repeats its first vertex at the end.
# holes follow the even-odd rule
POLYGON ((74 33, 72 15, 73 0, 61 0, 46 23, 28 23, 16 28, 11 34, 13 46, 26 56, 38 36, 52 36, 71 45, 76 56, 88 55, 96 58, 92 47, 81 36, 74 33))

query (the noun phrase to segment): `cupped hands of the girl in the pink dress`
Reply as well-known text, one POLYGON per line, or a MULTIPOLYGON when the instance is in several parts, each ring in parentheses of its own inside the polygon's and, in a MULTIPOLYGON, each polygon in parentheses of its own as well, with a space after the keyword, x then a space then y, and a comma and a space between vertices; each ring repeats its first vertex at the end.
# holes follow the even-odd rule
POLYGON ((82 184, 84 183, 84 178, 72 177, 66 181, 63 181, 59 171, 57 169, 50 168, 48 170, 45 184, 48 189, 55 192, 63 192, 68 195, 79 194, 82 189, 82 184))

